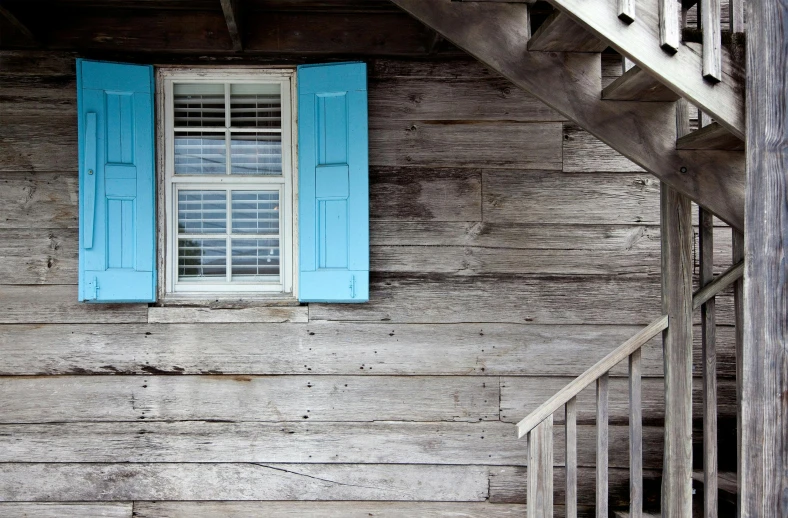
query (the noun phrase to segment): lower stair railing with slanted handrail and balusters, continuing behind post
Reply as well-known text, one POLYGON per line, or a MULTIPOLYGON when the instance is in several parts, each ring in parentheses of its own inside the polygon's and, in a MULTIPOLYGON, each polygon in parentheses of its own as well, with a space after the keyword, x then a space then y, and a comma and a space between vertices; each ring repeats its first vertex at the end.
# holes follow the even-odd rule
MULTIPOLYGON (((707 216, 701 212, 701 278, 702 287, 692 296, 692 307, 702 311, 704 329, 704 447, 708 458, 704 472, 714 480, 714 504, 706 509, 716 516, 716 363, 714 360, 713 308, 714 297, 731 285, 744 272, 744 263, 738 262, 717 278, 710 277, 710 238, 713 230, 707 216), (711 414, 715 417, 711 418, 711 414)), ((643 513, 643 430, 641 415, 641 358, 642 347, 662 331, 668 329, 668 316, 663 315, 640 330, 632 338, 599 360, 593 367, 574 379, 566 387, 545 401, 525 419, 517 423, 518 437, 528 438, 528 487, 527 509, 529 518, 553 515, 553 414, 564 407, 565 412, 565 477, 567 518, 577 516, 577 395, 596 382, 596 516, 607 518, 608 507, 608 383, 610 371, 628 359, 629 364, 629 480, 630 517, 639 518, 643 513)), ((708 485, 706 487, 709 487, 708 485)), ((709 495, 711 490, 707 490, 709 495)))

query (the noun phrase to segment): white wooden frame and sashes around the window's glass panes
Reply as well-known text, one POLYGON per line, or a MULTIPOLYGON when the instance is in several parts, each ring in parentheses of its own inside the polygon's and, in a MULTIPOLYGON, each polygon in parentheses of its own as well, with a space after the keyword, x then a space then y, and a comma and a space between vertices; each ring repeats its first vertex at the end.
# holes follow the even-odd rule
MULTIPOLYGON (((275 296, 294 297, 296 291, 295 272, 298 268, 297 252, 297 127, 296 127, 296 71, 293 68, 279 69, 225 69, 225 68, 161 68, 157 75, 157 99, 159 103, 159 124, 157 142, 159 149, 159 271, 163 279, 159 281, 162 298, 221 299, 239 297, 272 298, 275 296), (173 86, 176 83, 213 83, 213 84, 280 84, 282 103, 282 176, 231 175, 175 175, 174 157, 174 105, 173 86), (280 282, 261 283, 259 281, 178 281, 178 235, 176 232, 177 192, 183 189, 226 190, 229 204, 230 190, 243 187, 244 190, 278 190, 280 200, 280 282)), ((225 95, 229 95, 226 88, 225 95)), ((199 128, 190 128, 200 131, 199 128)), ((217 128, 218 129, 218 128, 217 128)), ((259 132, 259 128, 249 128, 248 132, 259 132)), ((228 143, 229 145, 229 143, 228 143)), ((228 150, 228 161, 230 160, 228 150)), ((229 214, 228 214, 229 218, 229 214)), ((230 228, 227 229, 230 232, 230 228)), ((217 234, 221 239, 228 234, 217 234)), ((213 236, 205 236, 213 238, 213 236)), ((246 237, 246 236, 244 236, 246 237)), ((249 236, 254 238, 254 236, 249 236)), ((229 250, 228 250, 229 256, 229 250)), ((228 271, 231 265, 227 264, 228 271)))

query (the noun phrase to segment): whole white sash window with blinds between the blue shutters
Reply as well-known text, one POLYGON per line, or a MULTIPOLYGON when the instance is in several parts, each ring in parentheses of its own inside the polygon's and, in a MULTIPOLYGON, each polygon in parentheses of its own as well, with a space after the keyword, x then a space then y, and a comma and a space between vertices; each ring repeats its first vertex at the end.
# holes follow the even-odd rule
POLYGON ((167 293, 293 292, 293 76, 162 70, 167 293))

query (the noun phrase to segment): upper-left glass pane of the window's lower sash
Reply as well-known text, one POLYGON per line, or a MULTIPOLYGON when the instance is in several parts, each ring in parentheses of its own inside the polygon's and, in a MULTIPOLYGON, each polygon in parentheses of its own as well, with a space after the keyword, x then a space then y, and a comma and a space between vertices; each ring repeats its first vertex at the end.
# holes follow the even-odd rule
POLYGON ((179 234, 223 234, 226 229, 226 191, 178 191, 179 234))

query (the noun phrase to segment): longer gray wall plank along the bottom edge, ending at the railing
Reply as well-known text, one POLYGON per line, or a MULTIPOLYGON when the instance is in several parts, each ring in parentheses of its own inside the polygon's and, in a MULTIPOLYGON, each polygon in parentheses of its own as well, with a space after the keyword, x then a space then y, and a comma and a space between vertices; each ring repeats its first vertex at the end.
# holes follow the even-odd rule
POLYGON ((522 504, 486 502, 135 502, 137 518, 514 518, 522 504))

